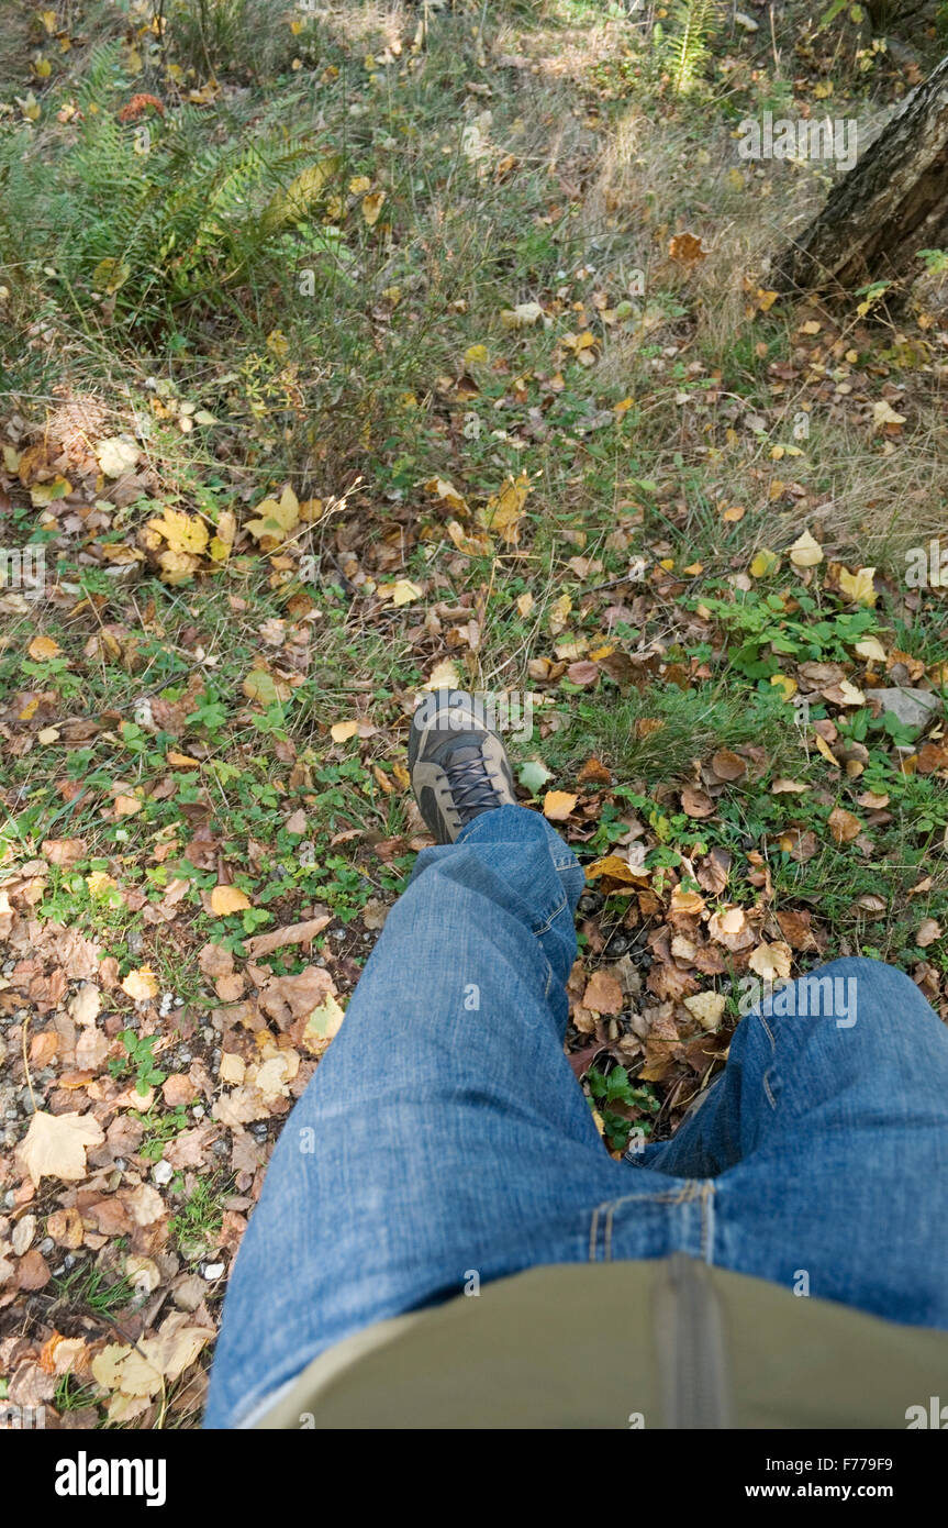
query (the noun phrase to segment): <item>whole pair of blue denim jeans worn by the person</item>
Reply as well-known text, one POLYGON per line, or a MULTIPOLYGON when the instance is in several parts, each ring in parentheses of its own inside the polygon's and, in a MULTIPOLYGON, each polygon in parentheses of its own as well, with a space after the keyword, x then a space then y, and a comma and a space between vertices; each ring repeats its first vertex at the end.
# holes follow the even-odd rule
POLYGON ((273 1152, 206 1426, 473 1271, 684 1251, 948 1328, 948 1030, 917 987, 824 966, 858 1007, 841 1019, 824 983, 806 1016, 748 1015, 678 1134, 615 1161, 563 1054, 582 888, 522 807, 418 856, 273 1152))

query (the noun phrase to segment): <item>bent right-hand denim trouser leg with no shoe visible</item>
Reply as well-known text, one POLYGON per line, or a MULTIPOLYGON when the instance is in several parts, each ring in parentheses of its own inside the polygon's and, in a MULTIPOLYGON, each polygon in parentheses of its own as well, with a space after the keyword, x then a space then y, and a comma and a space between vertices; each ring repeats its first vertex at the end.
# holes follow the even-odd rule
POLYGON ((713 1177, 721 1267, 948 1328, 948 1028, 901 970, 847 958, 791 983, 641 1161, 713 1177))

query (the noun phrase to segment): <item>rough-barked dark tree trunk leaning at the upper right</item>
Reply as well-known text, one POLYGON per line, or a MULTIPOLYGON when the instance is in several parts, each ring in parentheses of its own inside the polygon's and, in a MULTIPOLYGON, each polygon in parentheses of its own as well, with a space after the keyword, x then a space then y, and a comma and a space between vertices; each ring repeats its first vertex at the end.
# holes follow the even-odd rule
POLYGON ((832 290, 914 274, 948 240, 948 58, 905 96, 820 215, 774 261, 780 292, 832 290))

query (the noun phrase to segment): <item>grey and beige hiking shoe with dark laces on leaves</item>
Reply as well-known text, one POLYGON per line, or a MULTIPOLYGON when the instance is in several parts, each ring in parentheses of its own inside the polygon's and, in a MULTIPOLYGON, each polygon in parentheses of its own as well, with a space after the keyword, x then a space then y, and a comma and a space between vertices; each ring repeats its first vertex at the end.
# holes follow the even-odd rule
POLYGON ((453 843, 482 811, 514 807, 504 744, 484 707, 461 689, 427 694, 412 717, 408 769, 418 810, 438 843, 453 843))

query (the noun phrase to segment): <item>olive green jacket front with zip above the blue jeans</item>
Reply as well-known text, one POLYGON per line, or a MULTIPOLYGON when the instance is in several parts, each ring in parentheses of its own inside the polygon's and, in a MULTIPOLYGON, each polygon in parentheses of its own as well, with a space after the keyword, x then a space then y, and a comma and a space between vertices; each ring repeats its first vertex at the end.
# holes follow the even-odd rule
POLYGON ((893 1427, 948 1332, 681 1254, 531 1268, 313 1360, 255 1427, 893 1427))

